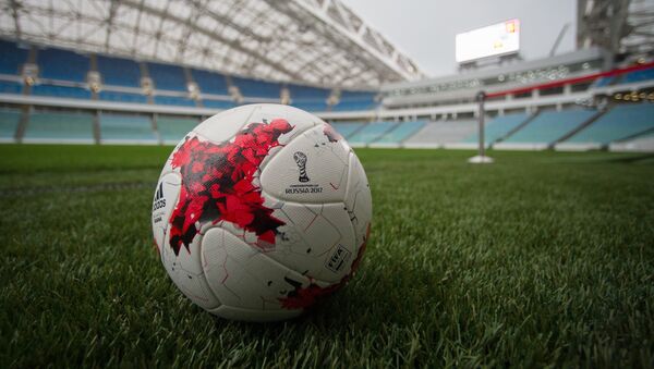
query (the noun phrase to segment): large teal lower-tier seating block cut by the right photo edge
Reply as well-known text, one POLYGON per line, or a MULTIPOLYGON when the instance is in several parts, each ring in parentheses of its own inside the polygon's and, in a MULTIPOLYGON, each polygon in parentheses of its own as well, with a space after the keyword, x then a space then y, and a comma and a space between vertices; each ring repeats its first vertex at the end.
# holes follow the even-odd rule
POLYGON ((615 140, 621 140, 654 128, 654 104, 618 104, 593 124, 579 131, 564 143, 557 144, 557 150, 584 150, 602 148, 615 140))

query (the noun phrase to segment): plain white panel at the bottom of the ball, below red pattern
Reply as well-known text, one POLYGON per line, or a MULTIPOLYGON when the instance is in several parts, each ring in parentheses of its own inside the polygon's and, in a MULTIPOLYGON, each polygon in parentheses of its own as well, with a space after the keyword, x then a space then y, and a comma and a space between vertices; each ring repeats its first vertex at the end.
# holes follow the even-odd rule
POLYGON ((310 280, 267 257, 221 227, 206 232, 202 265, 210 288, 222 305, 259 311, 281 310, 295 285, 310 280))

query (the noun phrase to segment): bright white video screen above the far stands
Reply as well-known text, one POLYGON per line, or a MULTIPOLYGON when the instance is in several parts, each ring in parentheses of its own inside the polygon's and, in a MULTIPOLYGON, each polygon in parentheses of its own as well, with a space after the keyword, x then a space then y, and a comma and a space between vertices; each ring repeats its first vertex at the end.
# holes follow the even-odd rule
POLYGON ((457 62, 508 54, 520 50, 520 21, 509 20, 457 35, 457 62))

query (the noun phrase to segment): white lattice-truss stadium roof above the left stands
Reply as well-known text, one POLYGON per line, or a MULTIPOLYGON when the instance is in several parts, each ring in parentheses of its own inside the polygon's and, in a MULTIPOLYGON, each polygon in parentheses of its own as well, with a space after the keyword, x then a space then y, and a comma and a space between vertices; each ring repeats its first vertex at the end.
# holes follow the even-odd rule
POLYGON ((320 85, 423 74, 339 0, 0 0, 0 35, 320 85))

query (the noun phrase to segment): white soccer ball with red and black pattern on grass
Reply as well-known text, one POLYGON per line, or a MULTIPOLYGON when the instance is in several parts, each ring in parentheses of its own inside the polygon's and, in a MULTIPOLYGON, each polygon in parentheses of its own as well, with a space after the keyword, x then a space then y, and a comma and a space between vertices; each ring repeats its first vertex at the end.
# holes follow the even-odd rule
POLYGON ((368 182, 346 140, 313 114, 265 103, 214 115, 178 144, 152 220, 161 262, 193 303, 274 321, 351 278, 371 218, 368 182))

